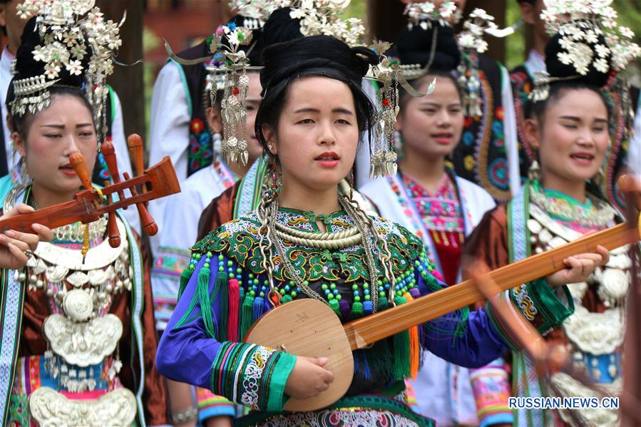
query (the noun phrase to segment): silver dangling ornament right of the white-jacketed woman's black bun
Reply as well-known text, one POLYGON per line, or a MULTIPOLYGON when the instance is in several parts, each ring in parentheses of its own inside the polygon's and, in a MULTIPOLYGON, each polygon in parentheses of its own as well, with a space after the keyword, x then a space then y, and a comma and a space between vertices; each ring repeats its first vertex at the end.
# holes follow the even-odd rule
POLYGON ((463 31, 458 34, 458 47, 463 52, 463 58, 457 68, 458 85, 463 90, 463 110, 467 116, 483 115, 481 100, 481 77, 478 73, 478 57, 476 53, 488 50, 488 42, 484 34, 495 37, 506 37, 514 33, 514 26, 499 29, 494 23, 494 17, 483 9, 474 9, 463 23, 463 31))

